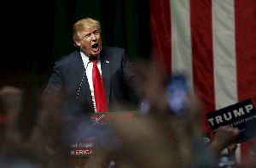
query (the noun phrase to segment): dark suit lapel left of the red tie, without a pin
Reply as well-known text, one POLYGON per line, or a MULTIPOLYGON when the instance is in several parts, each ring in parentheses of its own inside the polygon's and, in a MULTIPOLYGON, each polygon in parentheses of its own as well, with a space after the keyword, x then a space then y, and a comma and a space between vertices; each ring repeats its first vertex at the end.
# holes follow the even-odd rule
POLYGON ((87 76, 86 76, 86 74, 84 74, 84 72, 85 72, 84 62, 81 58, 79 51, 74 54, 73 69, 74 69, 74 71, 77 75, 77 79, 79 81, 79 87, 80 87, 80 92, 79 92, 79 88, 78 88, 79 97, 84 96, 86 98, 87 102, 90 104, 91 108, 94 109, 92 99, 91 99, 91 94, 90 93, 88 94, 88 92, 90 92, 90 86, 88 83, 87 76), (84 79, 83 79, 83 76, 84 76, 84 79), (82 83, 82 85, 81 85, 81 83, 82 83))

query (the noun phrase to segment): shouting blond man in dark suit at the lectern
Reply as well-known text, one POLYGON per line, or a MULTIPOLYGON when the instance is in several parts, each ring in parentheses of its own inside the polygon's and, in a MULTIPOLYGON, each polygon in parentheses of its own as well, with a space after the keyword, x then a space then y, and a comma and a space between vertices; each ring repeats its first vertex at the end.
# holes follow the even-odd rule
POLYGON ((100 22, 90 18, 73 25, 73 42, 79 49, 55 62, 43 100, 62 92, 65 103, 82 108, 86 113, 96 112, 91 61, 96 59, 108 111, 134 110, 129 92, 139 98, 142 83, 125 49, 103 47, 100 22))

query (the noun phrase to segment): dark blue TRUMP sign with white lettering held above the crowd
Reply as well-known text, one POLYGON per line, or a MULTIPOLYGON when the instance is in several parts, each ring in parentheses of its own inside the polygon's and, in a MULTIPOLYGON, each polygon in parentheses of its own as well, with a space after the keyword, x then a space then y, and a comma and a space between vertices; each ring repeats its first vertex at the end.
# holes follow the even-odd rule
POLYGON ((218 126, 234 126, 239 128, 240 133, 236 143, 241 143, 255 137, 253 123, 256 122, 256 111, 250 98, 208 113, 207 121, 214 134, 217 132, 218 126))

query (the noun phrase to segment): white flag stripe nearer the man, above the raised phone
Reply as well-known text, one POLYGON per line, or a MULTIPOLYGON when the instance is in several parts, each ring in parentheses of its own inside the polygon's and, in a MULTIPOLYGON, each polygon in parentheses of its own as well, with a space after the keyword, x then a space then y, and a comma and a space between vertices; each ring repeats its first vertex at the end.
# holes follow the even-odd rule
POLYGON ((172 73, 183 72, 192 82, 191 35, 189 1, 171 0, 172 20, 172 73))

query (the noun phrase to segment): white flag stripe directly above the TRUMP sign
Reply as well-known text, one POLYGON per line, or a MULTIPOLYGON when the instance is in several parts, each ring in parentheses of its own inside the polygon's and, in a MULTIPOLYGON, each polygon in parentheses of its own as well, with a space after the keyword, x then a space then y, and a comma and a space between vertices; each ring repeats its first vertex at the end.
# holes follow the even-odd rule
POLYGON ((234 1, 212 1, 216 109, 237 103, 234 1))

